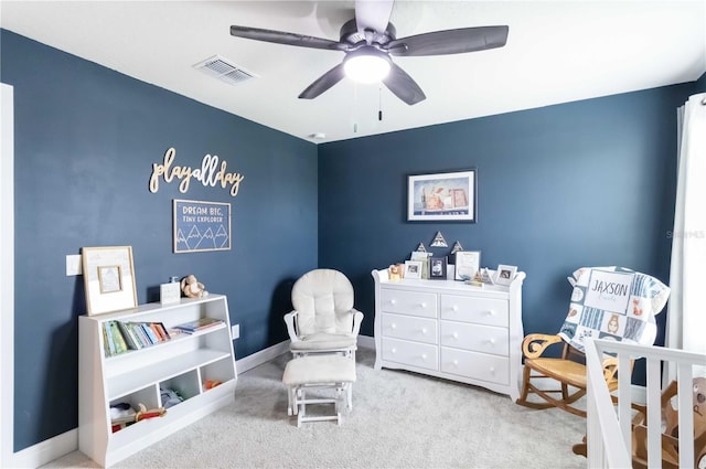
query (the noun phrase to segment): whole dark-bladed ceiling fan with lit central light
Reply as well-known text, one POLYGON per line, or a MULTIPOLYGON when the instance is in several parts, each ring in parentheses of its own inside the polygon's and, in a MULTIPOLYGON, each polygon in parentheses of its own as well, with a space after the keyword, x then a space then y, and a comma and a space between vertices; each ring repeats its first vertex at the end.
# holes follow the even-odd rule
MULTIPOLYGON (((389 23, 394 0, 356 0, 355 18, 341 28, 340 41, 302 34, 248 26, 231 26, 231 35, 301 47, 341 51, 343 62, 334 66, 300 95, 313 99, 344 76, 354 77, 356 70, 376 71, 370 82, 382 81, 399 99, 415 105, 426 96, 419 85, 391 56, 446 55, 502 47, 507 42, 506 25, 461 28, 434 31, 408 38, 396 38, 395 26, 389 23)), ((355 78, 354 78, 355 79, 355 78)), ((364 78, 360 78, 364 81, 364 78)))

